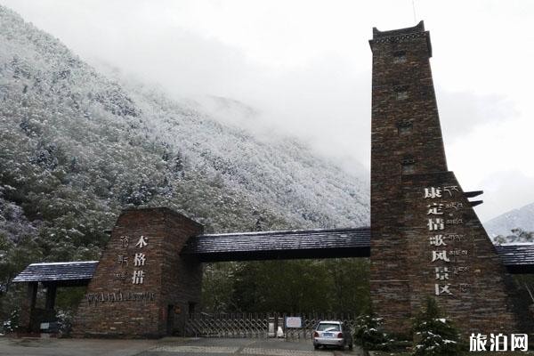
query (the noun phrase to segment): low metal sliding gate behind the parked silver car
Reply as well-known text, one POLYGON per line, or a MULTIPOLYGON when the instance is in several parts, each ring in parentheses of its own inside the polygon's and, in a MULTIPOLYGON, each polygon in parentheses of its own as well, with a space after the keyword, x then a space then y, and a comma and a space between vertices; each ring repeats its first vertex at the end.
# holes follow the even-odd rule
POLYGON ((189 315, 185 333, 196 337, 267 338, 276 337, 281 328, 287 339, 309 340, 320 320, 342 320, 354 328, 356 317, 352 313, 195 313, 189 315), (302 327, 286 328, 286 317, 300 317, 302 327))

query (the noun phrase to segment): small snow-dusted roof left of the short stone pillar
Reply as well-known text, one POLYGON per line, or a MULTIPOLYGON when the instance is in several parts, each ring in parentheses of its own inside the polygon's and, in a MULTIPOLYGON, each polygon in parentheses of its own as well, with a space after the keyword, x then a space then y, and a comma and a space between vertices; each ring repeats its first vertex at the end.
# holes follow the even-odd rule
POLYGON ((13 282, 89 281, 98 261, 31 263, 13 282))

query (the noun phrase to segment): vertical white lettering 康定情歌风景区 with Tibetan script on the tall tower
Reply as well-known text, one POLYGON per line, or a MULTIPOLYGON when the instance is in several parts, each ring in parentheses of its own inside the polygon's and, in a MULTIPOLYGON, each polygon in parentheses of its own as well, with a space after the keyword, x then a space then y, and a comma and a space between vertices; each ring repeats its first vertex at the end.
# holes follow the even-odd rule
POLYGON ((435 295, 458 295, 468 293, 471 286, 461 283, 461 274, 468 266, 458 263, 469 254, 466 249, 455 248, 465 236, 455 231, 464 221, 457 216, 464 207, 455 198, 460 195, 457 185, 426 187, 424 189, 425 226, 429 233, 429 260, 433 264, 433 293, 435 295))

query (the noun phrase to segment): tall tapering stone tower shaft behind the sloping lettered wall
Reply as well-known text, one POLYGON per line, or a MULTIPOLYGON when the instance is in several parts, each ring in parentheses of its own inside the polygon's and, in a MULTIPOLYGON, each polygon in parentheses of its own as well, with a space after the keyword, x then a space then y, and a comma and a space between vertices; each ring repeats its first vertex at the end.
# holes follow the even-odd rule
POLYGON ((410 327, 411 255, 400 226, 403 163, 412 174, 447 171, 430 69, 430 35, 373 29, 371 122, 371 300, 386 328, 410 327), (411 165, 411 167, 409 166, 411 165))

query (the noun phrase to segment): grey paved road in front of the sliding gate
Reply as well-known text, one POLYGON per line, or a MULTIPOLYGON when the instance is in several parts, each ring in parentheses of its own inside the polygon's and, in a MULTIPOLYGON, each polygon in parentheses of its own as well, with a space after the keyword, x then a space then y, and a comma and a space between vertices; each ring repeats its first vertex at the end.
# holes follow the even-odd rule
POLYGON ((0 355, 9 356, 360 356, 357 350, 314 351, 312 342, 276 339, 10 339, 0 338, 0 355))

